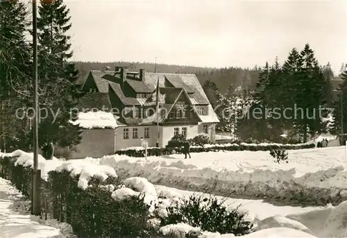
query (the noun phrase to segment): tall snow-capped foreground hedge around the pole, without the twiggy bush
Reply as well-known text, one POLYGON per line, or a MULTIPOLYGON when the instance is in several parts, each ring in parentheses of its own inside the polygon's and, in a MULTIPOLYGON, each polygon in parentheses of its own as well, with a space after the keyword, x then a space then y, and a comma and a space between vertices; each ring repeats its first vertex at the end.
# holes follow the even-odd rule
MULTIPOLYGON (((21 154, 15 152, 12 155, 21 154)), ((1 177, 10 180, 28 197, 32 162, 33 156, 23 151, 20 156, 0 155, 1 177)), ((42 171, 42 216, 69 223, 77 237, 149 237, 153 232, 148 222, 151 219, 148 201, 144 201, 140 193, 120 199, 117 185, 124 181, 117 178, 111 167, 88 159, 44 161, 39 156, 39 169, 42 171)), ((132 182, 135 183, 127 181, 127 185, 132 182)))

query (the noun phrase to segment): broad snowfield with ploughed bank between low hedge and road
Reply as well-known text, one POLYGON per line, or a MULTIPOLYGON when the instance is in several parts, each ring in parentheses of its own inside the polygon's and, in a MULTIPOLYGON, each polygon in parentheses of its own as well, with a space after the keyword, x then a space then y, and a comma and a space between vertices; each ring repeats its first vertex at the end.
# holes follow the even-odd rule
POLYGON ((288 164, 277 164, 268 151, 192 153, 189 160, 183 160, 183 155, 148 161, 112 155, 100 163, 160 185, 292 201, 305 196, 308 203, 325 205, 347 198, 344 156, 345 148, 340 146, 289 151, 288 164))

